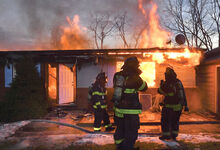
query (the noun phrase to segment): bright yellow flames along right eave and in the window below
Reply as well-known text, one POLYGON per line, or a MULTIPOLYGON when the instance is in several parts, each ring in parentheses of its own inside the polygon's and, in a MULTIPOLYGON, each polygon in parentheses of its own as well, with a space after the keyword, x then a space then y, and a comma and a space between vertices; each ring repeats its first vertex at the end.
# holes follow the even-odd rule
MULTIPOLYGON (((110 55, 128 55, 129 53, 109 53, 110 55)), ((136 53, 139 55, 139 53, 136 53)), ((133 55, 133 53, 130 53, 133 55)), ((169 51, 155 51, 144 52, 143 59, 140 60, 140 69, 142 71, 141 77, 147 81, 149 87, 155 87, 156 85, 156 64, 165 63, 167 65, 176 64, 177 66, 191 68, 199 65, 201 58, 201 51, 190 51, 188 48, 175 52, 169 51)), ((116 64, 116 71, 120 71, 123 62, 119 61, 116 64)))

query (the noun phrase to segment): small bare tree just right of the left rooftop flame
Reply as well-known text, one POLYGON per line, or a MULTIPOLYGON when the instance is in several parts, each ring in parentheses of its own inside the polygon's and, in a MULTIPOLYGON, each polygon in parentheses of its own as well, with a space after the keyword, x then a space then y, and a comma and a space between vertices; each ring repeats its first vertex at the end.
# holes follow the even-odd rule
POLYGON ((108 13, 103 15, 95 15, 88 27, 94 34, 94 40, 96 48, 103 49, 104 40, 107 36, 111 35, 111 31, 114 29, 115 24, 108 13))

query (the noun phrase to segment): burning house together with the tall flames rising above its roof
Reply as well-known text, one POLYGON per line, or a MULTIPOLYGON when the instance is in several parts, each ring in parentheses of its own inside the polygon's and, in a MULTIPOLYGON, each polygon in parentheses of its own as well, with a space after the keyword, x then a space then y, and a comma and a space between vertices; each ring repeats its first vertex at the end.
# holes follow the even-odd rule
POLYGON ((7 62, 7 65, 0 64, 0 100, 16 73, 13 66, 17 59, 28 56, 38 64, 48 99, 55 104, 74 103, 79 109, 86 109, 88 88, 95 81, 97 74, 104 71, 108 76, 107 99, 110 101, 114 73, 120 70, 127 57, 137 56, 142 70, 141 77, 149 86, 147 92, 140 94, 145 110, 149 109, 157 96, 157 88, 164 79, 165 68, 168 66, 175 70, 182 81, 189 108, 201 109, 203 106, 198 85, 203 81, 200 74, 198 75, 198 68, 201 68, 198 65, 203 55, 202 50, 187 48, 182 41, 179 42, 180 45, 170 42, 171 33, 159 24, 157 5, 152 1, 151 6, 147 7, 148 12, 142 1, 138 1, 138 9, 148 26, 138 34, 135 48, 89 49, 87 29, 79 26, 79 16, 75 15, 73 20, 66 17, 69 26, 59 28, 62 34, 53 36, 55 38, 48 50, 39 50, 37 47, 35 49, 38 50, 0 51, 0 59, 7 62), (201 81, 198 82, 198 79, 201 81))

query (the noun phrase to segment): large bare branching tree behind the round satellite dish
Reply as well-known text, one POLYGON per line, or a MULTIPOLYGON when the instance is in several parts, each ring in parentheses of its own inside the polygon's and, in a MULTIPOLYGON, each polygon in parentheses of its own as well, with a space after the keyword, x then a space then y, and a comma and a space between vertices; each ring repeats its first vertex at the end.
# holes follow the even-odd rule
POLYGON ((207 4, 208 0, 168 0, 166 11, 172 18, 166 26, 184 34, 188 46, 211 50, 214 31, 207 4))

